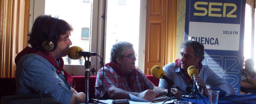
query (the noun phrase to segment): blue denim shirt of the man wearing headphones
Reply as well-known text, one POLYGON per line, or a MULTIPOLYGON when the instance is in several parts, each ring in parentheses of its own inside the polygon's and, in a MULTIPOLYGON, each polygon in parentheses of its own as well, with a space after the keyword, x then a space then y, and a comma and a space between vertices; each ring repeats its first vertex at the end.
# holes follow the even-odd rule
POLYGON ((16 68, 16 94, 50 94, 62 104, 69 104, 73 92, 62 74, 44 57, 26 54, 20 58, 16 68))

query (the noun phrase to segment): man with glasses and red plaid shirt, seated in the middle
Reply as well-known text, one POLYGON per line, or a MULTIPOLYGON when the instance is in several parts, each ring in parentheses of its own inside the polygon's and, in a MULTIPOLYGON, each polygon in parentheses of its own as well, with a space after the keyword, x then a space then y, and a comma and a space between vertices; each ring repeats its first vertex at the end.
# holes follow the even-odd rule
MULTIPOLYGON (((130 99, 129 93, 154 102, 156 96, 166 95, 167 89, 156 87, 149 79, 135 67, 136 54, 133 45, 129 42, 118 42, 111 50, 111 62, 97 73, 95 84, 95 96, 100 99, 130 99)), ((180 94, 176 88, 172 88, 172 95, 180 94)))

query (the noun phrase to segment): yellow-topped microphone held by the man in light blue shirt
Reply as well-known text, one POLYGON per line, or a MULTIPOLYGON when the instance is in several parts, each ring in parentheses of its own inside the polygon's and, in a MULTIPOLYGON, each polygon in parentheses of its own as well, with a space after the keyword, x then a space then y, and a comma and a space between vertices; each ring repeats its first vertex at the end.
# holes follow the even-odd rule
POLYGON ((194 78, 194 75, 198 76, 198 70, 196 69, 196 67, 195 66, 188 67, 188 74, 191 77, 191 79, 194 80, 197 91, 200 92, 200 87, 194 78))

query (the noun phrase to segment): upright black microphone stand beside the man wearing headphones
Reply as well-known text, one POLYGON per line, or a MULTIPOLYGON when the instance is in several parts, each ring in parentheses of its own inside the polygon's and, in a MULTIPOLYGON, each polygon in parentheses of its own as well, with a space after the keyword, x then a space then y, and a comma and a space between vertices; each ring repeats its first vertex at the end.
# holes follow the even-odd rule
MULTIPOLYGON (((80 54, 79 54, 80 55, 80 54)), ((90 57, 91 54, 81 54, 84 57, 84 66, 85 66, 85 73, 84 73, 84 79, 85 79, 85 104, 89 104, 89 78, 90 78, 90 66, 91 66, 91 61, 90 57), (87 60, 86 60, 87 57, 87 60)))

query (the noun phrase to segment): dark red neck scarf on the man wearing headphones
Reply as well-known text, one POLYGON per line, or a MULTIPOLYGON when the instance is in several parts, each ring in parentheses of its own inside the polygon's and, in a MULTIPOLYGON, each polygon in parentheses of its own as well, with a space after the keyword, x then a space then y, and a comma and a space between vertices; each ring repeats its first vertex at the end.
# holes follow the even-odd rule
POLYGON ((51 53, 49 52, 41 52, 38 51, 34 48, 30 48, 30 47, 26 47, 24 50, 22 50, 15 58, 15 64, 17 65, 18 61, 20 60, 20 58, 22 56, 24 56, 25 54, 30 54, 30 53, 34 53, 34 54, 38 54, 41 55, 42 57, 44 57, 46 60, 48 60, 56 69, 56 73, 57 74, 61 74, 62 71, 64 72, 64 76, 66 77, 67 81, 69 82, 69 84, 71 85, 71 87, 74 87, 73 85, 73 80, 70 74, 68 74, 66 72, 66 70, 64 70, 64 61, 62 59, 62 57, 60 58, 60 65, 57 63, 56 59, 52 56, 51 53))

